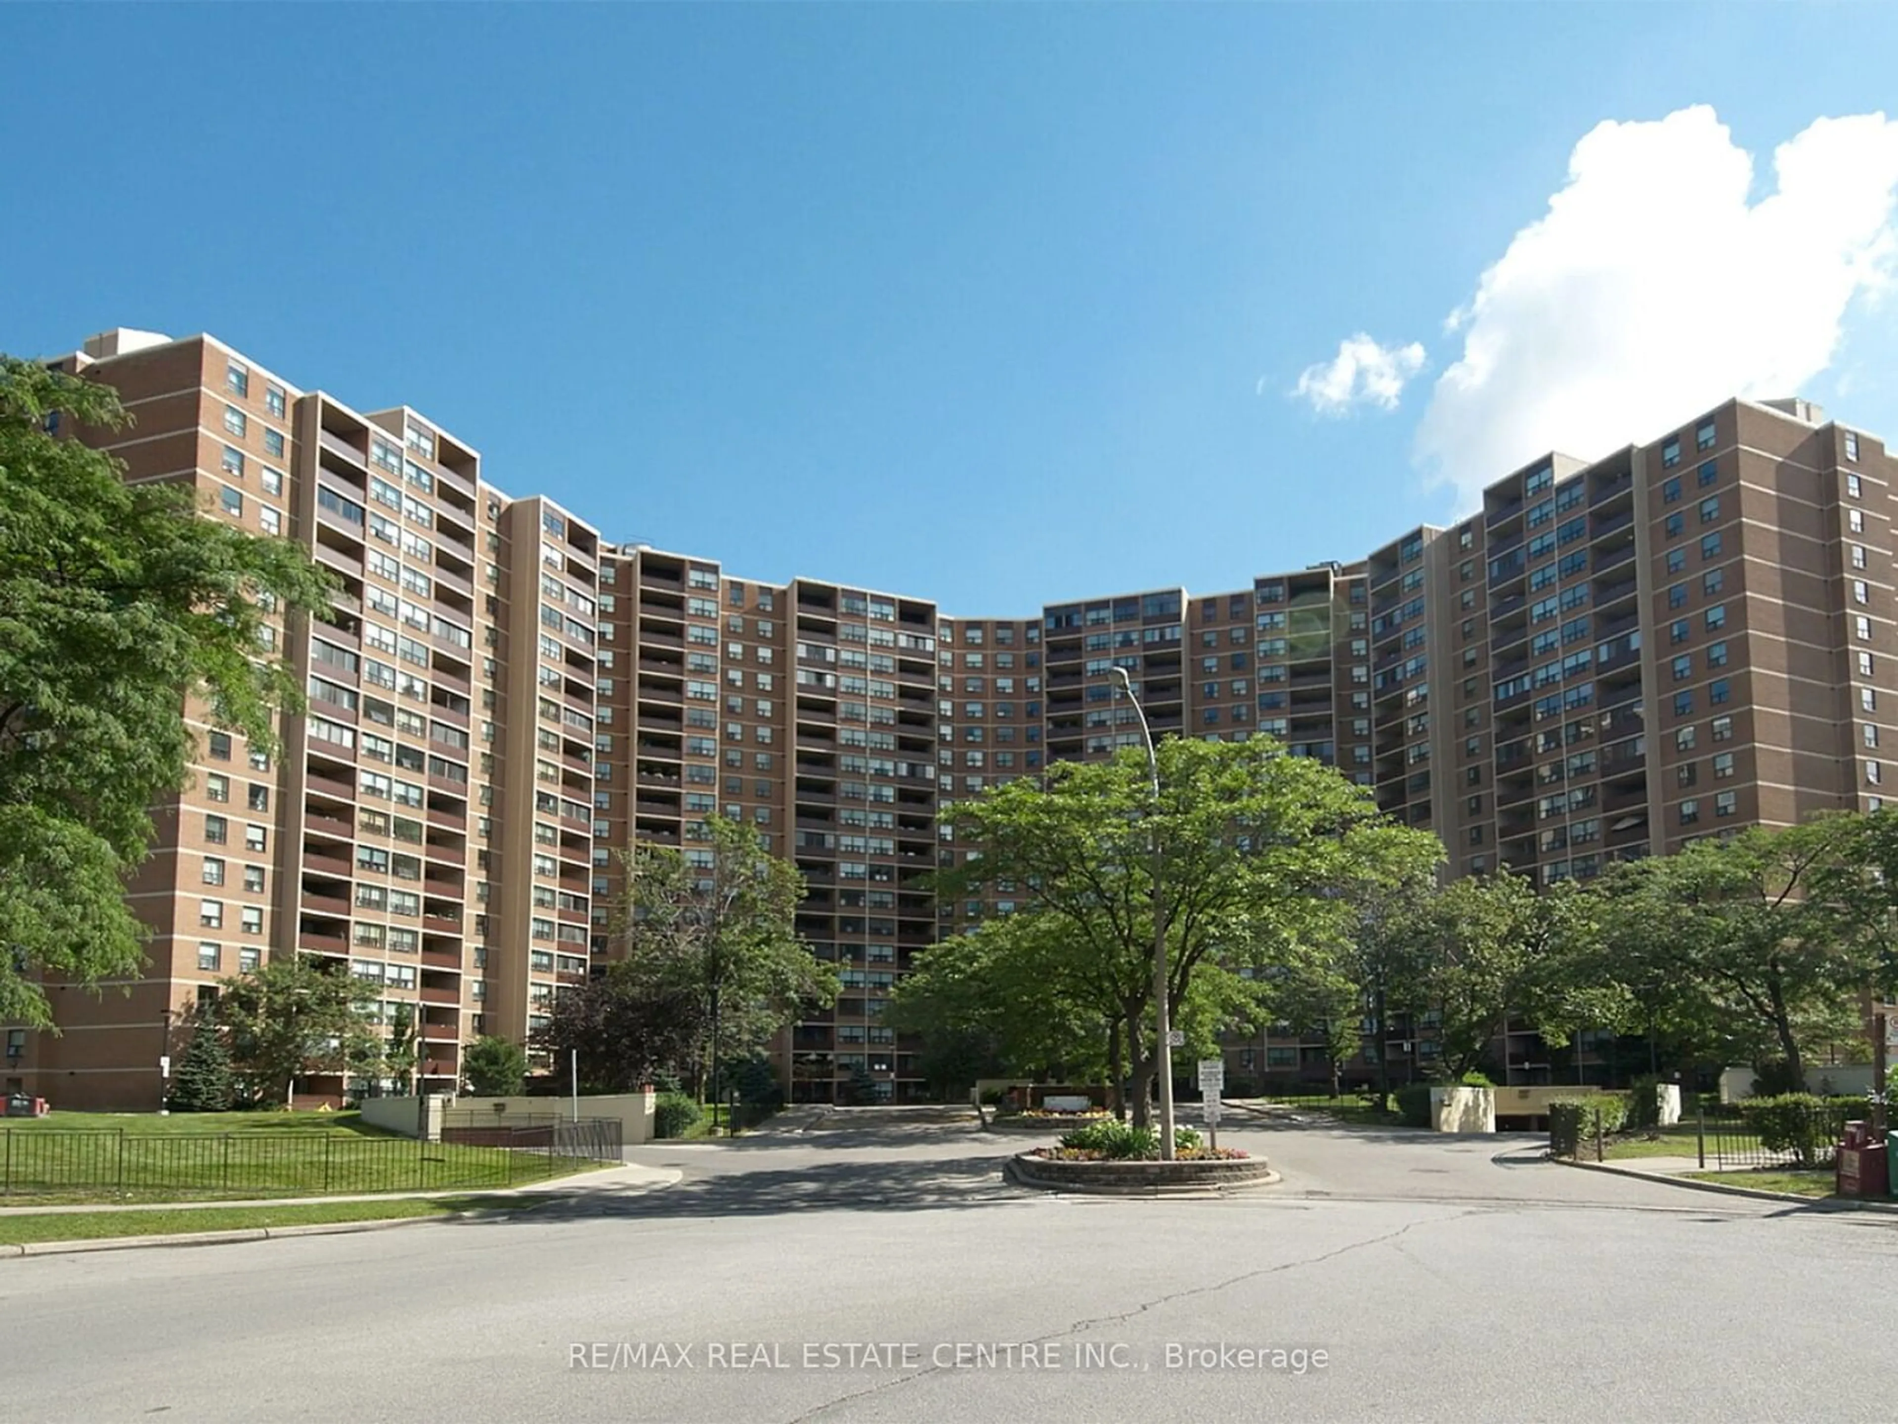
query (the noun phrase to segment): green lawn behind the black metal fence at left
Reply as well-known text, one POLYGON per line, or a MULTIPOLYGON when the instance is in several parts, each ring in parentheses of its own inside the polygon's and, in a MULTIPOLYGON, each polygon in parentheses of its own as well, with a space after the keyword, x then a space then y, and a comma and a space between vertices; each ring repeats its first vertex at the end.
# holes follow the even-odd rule
POLYGON ((0 1120, 0 1202, 165 1202, 488 1190, 592 1168, 507 1147, 418 1143, 355 1113, 61 1113, 0 1120))

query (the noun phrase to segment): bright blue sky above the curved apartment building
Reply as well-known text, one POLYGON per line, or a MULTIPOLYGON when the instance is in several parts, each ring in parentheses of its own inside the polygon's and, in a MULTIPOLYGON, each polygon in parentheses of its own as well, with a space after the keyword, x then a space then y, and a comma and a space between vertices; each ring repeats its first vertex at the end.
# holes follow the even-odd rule
POLYGON ((1898 298, 1777 281, 1879 268, 1898 125, 1813 142, 1835 243, 1744 211, 1894 53, 1877 6, 4 6, 0 349, 211 330, 740 577, 1222 590, 1786 370, 1898 437, 1898 298), (1693 104, 1725 137, 1657 125, 1693 104), (1644 127, 1589 150, 1594 216, 1513 249, 1602 122, 1644 127), (1742 199, 1695 188, 1740 150, 1742 199), (1649 228, 1661 290, 1731 258, 1780 306, 1630 336, 1646 247, 1606 289, 1594 253, 1649 228), (1395 408, 1349 363, 1296 397, 1357 332, 1395 408), (1433 403, 1473 332, 1505 370, 1433 403))

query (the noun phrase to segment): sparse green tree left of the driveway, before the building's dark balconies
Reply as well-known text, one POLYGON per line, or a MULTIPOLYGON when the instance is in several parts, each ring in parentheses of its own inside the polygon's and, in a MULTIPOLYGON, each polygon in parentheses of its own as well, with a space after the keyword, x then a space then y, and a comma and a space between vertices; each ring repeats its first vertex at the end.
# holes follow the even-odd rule
POLYGON ((757 828, 710 816, 695 866, 670 845, 626 854, 624 974, 649 999, 697 995, 704 1004, 697 1059, 700 1101, 721 1059, 759 1052, 814 1008, 837 1001, 837 972, 797 936, 805 881, 765 851, 757 828))

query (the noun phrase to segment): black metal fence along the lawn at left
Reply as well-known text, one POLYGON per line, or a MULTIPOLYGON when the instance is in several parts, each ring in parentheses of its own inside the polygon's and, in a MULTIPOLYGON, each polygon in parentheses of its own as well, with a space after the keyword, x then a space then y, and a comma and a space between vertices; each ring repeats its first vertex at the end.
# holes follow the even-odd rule
MULTIPOLYGON (((492 1128, 490 1128, 492 1132, 492 1128)), ((332 1132, 0 1128, 0 1196, 338 1196, 507 1189, 619 1162, 619 1122, 528 1126, 505 1141, 332 1132)))

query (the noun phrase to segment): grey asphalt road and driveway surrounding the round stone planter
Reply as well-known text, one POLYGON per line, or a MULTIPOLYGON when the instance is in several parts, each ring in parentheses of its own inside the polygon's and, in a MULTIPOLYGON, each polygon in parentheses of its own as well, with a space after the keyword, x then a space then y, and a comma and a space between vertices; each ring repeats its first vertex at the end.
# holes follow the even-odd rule
POLYGON ((640 1149, 683 1181, 516 1221, 0 1261, 0 1416, 1898 1416, 1898 1217, 1511 1137, 1220 1137, 1283 1185, 1042 1196, 1000 1179, 1023 1139, 833 1115, 640 1149))

